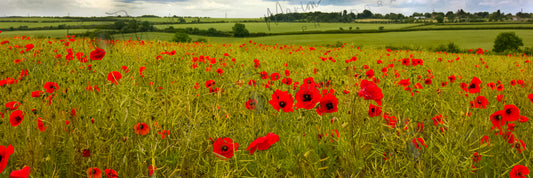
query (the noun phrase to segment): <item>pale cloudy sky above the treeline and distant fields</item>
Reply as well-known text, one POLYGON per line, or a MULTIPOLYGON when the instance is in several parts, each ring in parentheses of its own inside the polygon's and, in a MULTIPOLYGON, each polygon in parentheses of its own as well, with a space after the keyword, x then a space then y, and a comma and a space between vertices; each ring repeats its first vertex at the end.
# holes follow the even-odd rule
MULTIPOLYGON (((130 16, 263 17, 267 9, 282 12, 374 13, 467 12, 500 9, 504 13, 533 12, 533 0, 0 0, 4 16, 107 16, 124 10, 130 16), (290 10, 287 10, 290 9, 290 10)), ((124 13, 119 13, 124 15, 124 13)))

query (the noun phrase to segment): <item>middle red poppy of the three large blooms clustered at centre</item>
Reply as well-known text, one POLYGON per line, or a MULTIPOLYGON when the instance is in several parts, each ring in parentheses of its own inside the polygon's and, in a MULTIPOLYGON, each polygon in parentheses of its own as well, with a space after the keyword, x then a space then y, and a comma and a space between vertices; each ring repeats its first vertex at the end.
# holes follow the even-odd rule
POLYGON ((296 93, 296 108, 312 109, 320 101, 320 92, 313 84, 304 82, 296 93))

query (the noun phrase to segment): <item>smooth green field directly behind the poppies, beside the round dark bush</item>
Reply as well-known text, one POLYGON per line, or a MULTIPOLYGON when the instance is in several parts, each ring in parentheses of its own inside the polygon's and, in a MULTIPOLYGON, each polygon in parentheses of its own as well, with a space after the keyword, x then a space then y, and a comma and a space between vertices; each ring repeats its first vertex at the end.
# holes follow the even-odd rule
MULTIPOLYGON (((440 44, 454 42, 462 49, 483 48, 491 50, 494 39, 501 32, 515 32, 523 39, 524 46, 533 46, 533 30, 439 30, 439 31, 412 31, 388 32, 366 34, 310 34, 310 35, 279 35, 256 38, 232 37, 205 37, 190 35, 193 40, 205 38, 211 43, 246 43, 253 40, 262 44, 294 44, 294 45, 334 45, 337 42, 349 45, 371 48, 384 48, 386 46, 409 47, 411 49, 430 49, 440 44)), ((143 40, 172 40, 171 33, 138 33, 115 35, 116 39, 143 40)))

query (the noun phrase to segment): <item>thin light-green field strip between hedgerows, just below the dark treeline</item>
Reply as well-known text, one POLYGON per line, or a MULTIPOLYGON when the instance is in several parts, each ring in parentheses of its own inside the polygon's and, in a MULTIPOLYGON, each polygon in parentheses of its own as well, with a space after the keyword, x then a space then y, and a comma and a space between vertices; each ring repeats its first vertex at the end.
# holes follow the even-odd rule
MULTIPOLYGON (((360 30, 378 30, 383 26, 384 29, 400 29, 406 27, 416 26, 417 24, 369 24, 369 23, 270 23, 270 31, 268 30, 267 23, 243 23, 246 29, 251 33, 284 33, 284 32, 301 32, 301 31, 327 31, 327 30, 339 30, 342 27, 344 30, 349 30, 352 27, 352 31, 355 31, 357 27, 360 30)), ((174 25, 155 25, 156 28, 165 29, 169 26, 174 28, 198 28, 207 30, 209 28, 215 28, 220 31, 232 31, 233 23, 211 23, 211 24, 174 24, 174 25)))

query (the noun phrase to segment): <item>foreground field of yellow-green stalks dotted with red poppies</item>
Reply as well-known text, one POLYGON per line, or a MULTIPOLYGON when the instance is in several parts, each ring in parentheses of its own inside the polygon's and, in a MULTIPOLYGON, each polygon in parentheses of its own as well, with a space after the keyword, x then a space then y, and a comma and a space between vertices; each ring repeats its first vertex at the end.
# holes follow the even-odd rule
POLYGON ((0 44, 0 177, 531 176, 524 54, 0 44))

